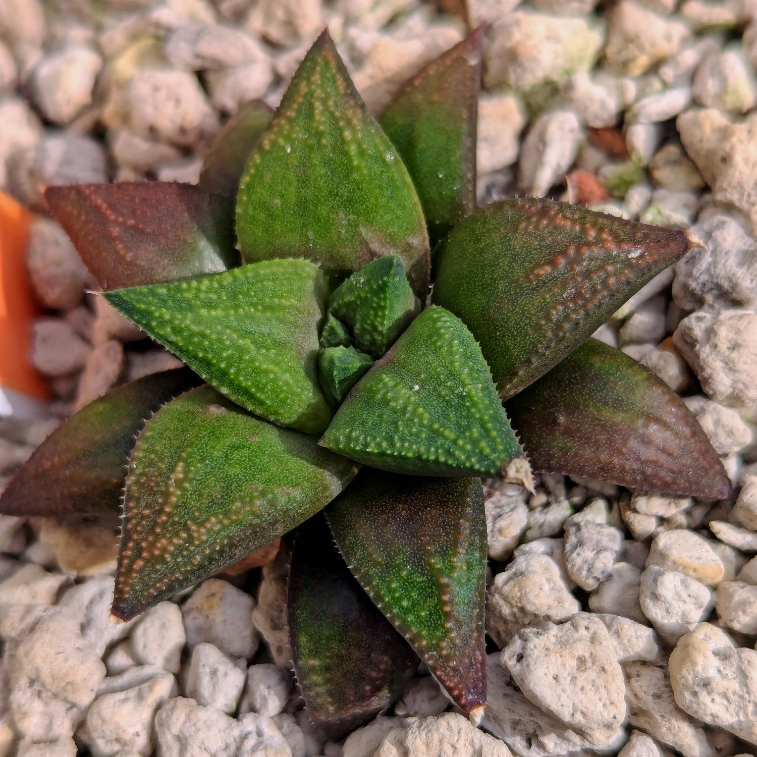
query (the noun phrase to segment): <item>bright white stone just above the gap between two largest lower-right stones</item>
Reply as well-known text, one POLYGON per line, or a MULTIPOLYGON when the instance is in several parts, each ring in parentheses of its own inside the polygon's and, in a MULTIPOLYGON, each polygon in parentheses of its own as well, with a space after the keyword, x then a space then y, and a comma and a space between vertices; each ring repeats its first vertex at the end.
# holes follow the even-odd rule
POLYGON ((709 616, 712 591, 683 573, 650 565, 641 574, 639 603, 657 633, 672 646, 709 616))

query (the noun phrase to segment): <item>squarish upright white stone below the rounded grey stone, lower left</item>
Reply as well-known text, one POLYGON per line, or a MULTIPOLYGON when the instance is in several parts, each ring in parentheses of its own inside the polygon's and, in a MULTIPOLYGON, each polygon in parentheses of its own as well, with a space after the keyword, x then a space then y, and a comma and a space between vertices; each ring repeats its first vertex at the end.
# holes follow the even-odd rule
POLYGON ((232 715, 244 687, 245 671, 229 656, 207 641, 195 646, 186 674, 187 696, 198 704, 232 715))

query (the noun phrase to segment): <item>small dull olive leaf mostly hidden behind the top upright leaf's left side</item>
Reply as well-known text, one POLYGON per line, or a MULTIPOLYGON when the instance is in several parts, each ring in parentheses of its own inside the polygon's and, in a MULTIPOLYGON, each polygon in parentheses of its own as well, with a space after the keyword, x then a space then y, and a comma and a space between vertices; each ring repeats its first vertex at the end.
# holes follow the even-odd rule
POLYGON ((226 122, 203 160, 200 186, 205 192, 236 199, 248 157, 272 115, 264 102, 254 100, 243 104, 226 122))

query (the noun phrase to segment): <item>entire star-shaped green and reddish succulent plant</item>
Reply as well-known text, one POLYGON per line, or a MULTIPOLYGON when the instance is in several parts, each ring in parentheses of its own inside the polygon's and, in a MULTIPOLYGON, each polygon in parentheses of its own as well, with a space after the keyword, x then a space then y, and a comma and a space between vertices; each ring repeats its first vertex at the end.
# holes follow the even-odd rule
POLYGON ((484 706, 481 478, 730 492, 681 400, 590 338, 692 242, 550 200, 478 209, 479 44, 375 120, 323 33, 275 114, 229 122, 199 186, 46 192, 101 296, 188 368, 76 413, 0 509, 123 508, 120 618, 290 534, 294 671, 332 738, 419 658, 484 706))

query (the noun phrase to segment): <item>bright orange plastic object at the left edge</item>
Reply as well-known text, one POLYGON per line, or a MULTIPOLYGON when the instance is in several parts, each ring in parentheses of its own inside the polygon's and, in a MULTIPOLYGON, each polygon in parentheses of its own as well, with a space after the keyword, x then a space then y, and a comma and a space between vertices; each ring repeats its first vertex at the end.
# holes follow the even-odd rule
POLYGON ((0 192, 0 386, 45 400, 48 386, 30 361, 40 312, 26 272, 30 221, 26 208, 0 192))

